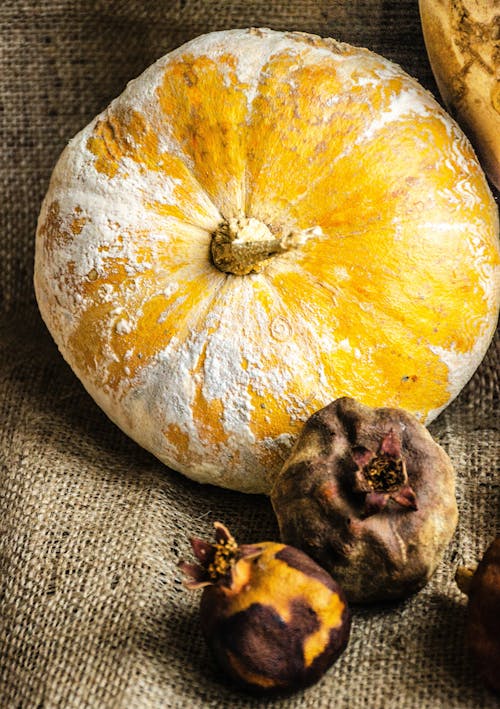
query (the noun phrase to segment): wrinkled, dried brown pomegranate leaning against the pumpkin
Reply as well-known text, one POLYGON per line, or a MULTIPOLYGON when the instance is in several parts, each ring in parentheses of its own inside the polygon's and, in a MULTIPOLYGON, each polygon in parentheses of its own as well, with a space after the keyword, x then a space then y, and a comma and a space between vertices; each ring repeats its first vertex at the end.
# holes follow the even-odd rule
POLYGON ((347 397, 306 422, 271 500, 283 541, 356 603, 424 586, 458 516, 453 467, 427 429, 402 409, 347 397))

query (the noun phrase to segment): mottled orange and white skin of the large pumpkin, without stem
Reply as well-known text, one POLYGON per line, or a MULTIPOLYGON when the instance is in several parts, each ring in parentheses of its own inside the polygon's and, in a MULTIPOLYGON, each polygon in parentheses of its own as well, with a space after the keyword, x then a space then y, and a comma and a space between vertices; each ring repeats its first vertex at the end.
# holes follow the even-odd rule
POLYGON ((35 257, 42 316, 110 418, 247 492, 340 396, 431 421, 491 341, 498 273, 495 203, 432 96, 366 49, 271 30, 202 36, 131 82, 64 150, 35 257), (228 223, 282 248, 222 272, 228 223))

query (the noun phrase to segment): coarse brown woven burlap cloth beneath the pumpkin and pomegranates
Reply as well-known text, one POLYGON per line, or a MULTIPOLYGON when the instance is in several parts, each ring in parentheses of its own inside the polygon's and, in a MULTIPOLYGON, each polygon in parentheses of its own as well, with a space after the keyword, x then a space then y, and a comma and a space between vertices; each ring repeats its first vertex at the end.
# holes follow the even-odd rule
MULTIPOLYGON (((35 223, 65 142, 182 42, 248 25, 367 46, 435 92, 415 0, 3 0, 0 3, 0 707, 257 707, 200 636, 177 562, 228 524, 276 538, 269 501, 201 487, 111 424, 63 362, 34 302, 35 223)), ((458 475, 460 523, 431 583, 354 612, 348 650, 270 706, 494 707, 464 648, 456 566, 500 531, 499 353, 432 425, 458 475)))

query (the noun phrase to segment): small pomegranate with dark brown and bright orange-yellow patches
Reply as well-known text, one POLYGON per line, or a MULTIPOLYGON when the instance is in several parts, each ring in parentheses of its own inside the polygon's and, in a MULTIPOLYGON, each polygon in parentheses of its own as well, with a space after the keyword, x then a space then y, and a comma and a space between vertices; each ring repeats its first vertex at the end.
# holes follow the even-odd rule
POLYGON ((203 588, 203 634, 222 669, 246 689, 290 692, 313 684, 343 652, 350 613, 342 590, 306 554, 275 542, 238 546, 215 523, 215 544, 192 539, 203 588))

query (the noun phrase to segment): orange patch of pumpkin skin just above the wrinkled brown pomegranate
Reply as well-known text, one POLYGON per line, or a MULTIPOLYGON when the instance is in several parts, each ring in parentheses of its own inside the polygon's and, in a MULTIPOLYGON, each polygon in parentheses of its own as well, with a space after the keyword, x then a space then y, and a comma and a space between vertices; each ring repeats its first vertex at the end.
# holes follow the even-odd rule
MULTIPOLYGON (((373 312, 363 308, 370 298, 360 293, 356 282, 353 278, 338 288, 333 272, 319 283, 300 271, 283 272, 274 277, 283 301, 290 308, 291 318, 306 322, 314 319, 314 339, 304 339, 302 343, 303 349, 314 356, 304 367, 311 368, 313 377, 314 370, 318 371, 318 361, 321 362, 323 378, 336 396, 376 402, 389 390, 393 392, 394 405, 406 405, 427 415, 436 407, 436 402, 442 405, 449 398, 447 367, 411 332, 404 307, 395 308, 391 316, 384 314, 380 306, 379 321, 375 325, 373 312), (327 289, 328 281, 331 285, 327 289), (314 311, 311 304, 316 306, 314 311), (330 351, 325 349, 326 343, 330 351), (420 380, 412 382, 413 386, 402 381, 408 371, 421 372, 420 380)), ((411 312, 409 317, 411 319, 411 312)), ((300 375, 304 376, 304 369, 300 375)), ((318 375, 316 380, 319 389, 318 375)), ((320 408, 317 400, 311 405, 320 408)), ((313 411, 314 408, 311 413, 313 411)))

